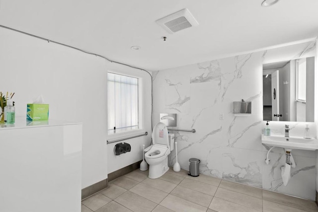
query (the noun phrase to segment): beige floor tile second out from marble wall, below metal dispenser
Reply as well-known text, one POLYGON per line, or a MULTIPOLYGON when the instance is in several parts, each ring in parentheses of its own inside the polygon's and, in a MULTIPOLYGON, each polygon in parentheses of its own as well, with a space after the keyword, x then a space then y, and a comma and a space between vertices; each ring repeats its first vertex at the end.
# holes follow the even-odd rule
POLYGON ((220 187, 215 193, 215 197, 239 204, 241 206, 246 206, 257 211, 262 211, 262 199, 256 197, 251 197, 249 195, 241 194, 220 187))

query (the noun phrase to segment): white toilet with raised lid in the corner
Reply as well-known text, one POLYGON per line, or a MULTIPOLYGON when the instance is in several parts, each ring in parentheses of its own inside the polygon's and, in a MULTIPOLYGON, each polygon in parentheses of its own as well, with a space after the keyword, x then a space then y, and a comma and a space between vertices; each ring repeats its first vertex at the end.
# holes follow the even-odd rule
POLYGON ((168 135, 165 124, 159 122, 152 133, 153 146, 145 153, 146 162, 149 164, 149 178, 161 177, 168 167, 168 155, 174 148, 174 134, 168 135))

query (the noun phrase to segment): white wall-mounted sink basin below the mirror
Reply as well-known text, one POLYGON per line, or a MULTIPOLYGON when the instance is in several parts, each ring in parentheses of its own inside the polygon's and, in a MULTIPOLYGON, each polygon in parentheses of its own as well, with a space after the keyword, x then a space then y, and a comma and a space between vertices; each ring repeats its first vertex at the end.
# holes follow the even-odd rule
POLYGON ((316 150, 318 149, 317 139, 304 139, 302 137, 284 136, 264 136, 262 135, 262 143, 270 146, 277 146, 290 149, 316 150))

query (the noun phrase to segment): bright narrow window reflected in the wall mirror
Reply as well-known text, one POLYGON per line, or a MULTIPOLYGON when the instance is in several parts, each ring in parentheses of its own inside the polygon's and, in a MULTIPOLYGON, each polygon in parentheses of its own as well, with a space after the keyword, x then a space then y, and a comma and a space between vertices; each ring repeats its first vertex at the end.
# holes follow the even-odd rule
POLYGON ((296 61, 296 100, 306 102, 306 58, 296 61))

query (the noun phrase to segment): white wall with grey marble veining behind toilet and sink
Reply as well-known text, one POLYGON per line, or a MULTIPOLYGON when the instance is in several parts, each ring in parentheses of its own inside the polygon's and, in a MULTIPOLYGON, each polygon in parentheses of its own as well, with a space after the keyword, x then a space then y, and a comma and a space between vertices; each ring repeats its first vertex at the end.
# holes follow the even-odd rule
MULTIPOLYGON (((296 52, 307 46, 297 46, 296 52)), ((188 169, 189 158, 196 157, 201 160, 200 173, 315 199, 315 151, 293 150, 297 167, 292 169, 286 187, 280 175, 284 150, 275 148, 270 153, 271 163, 264 162, 269 147, 260 139, 266 123, 262 121, 262 64, 286 60, 280 57, 285 56, 284 51, 268 50, 158 72, 154 80, 154 123, 159 121, 159 113, 177 113, 177 128, 196 130, 194 134, 175 133, 181 168, 188 169), (251 116, 234 116, 233 101, 240 99, 252 102, 251 116), (219 114, 224 114, 224 120, 219 114)), ((305 123, 296 122, 270 122, 272 134, 284 135, 285 124, 292 128, 291 136, 303 136, 305 123)), ((310 123, 314 136, 316 126, 310 123)), ((168 159, 173 165, 174 151, 168 159)))

